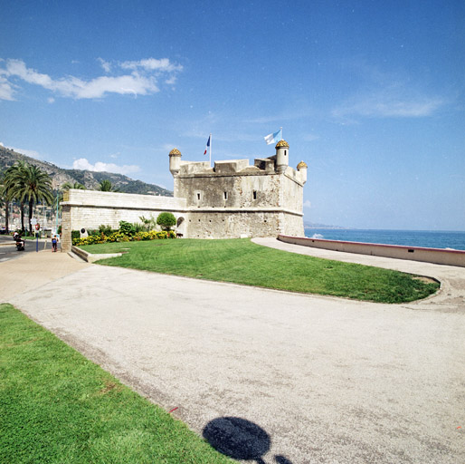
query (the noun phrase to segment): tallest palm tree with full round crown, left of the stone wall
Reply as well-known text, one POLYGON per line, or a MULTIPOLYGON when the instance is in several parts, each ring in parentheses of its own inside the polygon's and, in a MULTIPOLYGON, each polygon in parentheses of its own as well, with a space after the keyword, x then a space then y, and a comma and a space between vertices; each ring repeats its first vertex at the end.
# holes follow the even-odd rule
POLYGON ((12 193, 20 201, 29 202, 29 231, 33 231, 31 219, 33 218, 33 205, 39 201, 45 201, 51 204, 52 196, 52 179, 50 176, 37 166, 25 163, 24 169, 20 169, 14 177, 12 193))

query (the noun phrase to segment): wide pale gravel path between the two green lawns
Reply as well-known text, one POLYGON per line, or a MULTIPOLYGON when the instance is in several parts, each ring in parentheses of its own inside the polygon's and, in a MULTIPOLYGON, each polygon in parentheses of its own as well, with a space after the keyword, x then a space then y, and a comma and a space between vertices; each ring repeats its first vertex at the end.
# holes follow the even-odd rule
POLYGON ((251 421, 265 435, 249 437, 243 459, 465 461, 463 268, 415 263, 445 289, 389 305, 36 255, 1 263, 2 280, 20 261, 30 270, 21 280, 38 266, 62 275, 10 292, 10 303, 150 400, 178 407, 199 434, 220 418, 251 421))

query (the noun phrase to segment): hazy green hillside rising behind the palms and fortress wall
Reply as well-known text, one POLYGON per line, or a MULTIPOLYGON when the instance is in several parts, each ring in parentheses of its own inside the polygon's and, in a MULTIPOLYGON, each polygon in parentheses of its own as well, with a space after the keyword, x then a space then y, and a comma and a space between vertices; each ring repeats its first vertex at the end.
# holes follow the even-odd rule
POLYGON ((53 189, 58 189, 64 182, 79 182, 86 189, 98 189, 100 181, 109 179, 113 186, 124 193, 138 193, 141 195, 160 195, 162 197, 173 197, 173 192, 163 189, 155 184, 147 184, 141 180, 130 179, 122 174, 113 172, 94 172, 81 169, 62 169, 47 161, 35 160, 34 158, 7 149, 0 145, 0 172, 13 166, 18 160, 25 160, 43 169, 52 178, 53 189))

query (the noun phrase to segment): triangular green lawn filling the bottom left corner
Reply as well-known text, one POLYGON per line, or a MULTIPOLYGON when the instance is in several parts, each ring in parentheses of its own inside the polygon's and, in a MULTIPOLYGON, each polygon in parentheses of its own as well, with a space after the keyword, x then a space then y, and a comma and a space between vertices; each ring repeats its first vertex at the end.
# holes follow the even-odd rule
POLYGON ((0 326, 0 462, 233 462, 10 304, 0 326))

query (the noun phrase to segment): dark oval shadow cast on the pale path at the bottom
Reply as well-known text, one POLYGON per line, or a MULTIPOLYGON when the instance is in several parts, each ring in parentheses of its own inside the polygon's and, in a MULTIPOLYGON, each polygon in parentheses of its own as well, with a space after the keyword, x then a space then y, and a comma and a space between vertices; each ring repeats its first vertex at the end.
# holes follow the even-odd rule
MULTIPOLYGON (((220 417, 211 420, 204 428, 204 439, 217 451, 233 459, 255 460, 265 464, 261 457, 270 450, 270 435, 257 424, 239 417, 220 417)), ((292 464, 275 456, 278 464, 292 464)))

